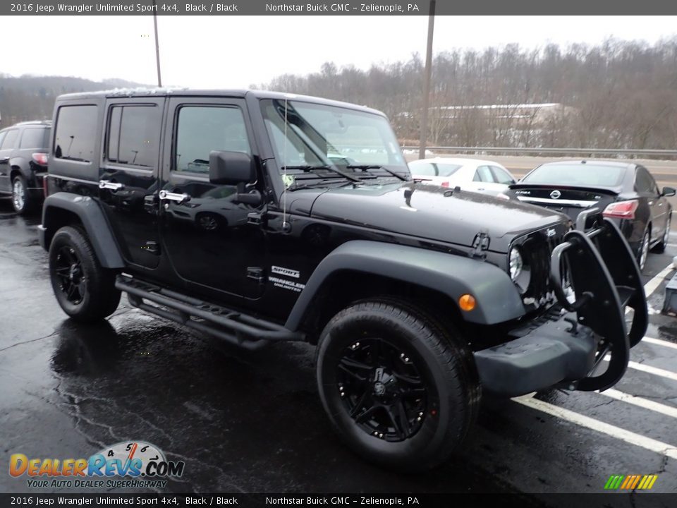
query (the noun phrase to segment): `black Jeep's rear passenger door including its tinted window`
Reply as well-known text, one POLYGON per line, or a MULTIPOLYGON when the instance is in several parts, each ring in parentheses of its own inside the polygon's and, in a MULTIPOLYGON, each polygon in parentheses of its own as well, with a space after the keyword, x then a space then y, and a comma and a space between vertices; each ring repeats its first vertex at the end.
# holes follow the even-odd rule
POLYGON ((159 264, 157 174, 164 98, 106 103, 99 198, 121 238, 123 257, 143 268, 159 264))

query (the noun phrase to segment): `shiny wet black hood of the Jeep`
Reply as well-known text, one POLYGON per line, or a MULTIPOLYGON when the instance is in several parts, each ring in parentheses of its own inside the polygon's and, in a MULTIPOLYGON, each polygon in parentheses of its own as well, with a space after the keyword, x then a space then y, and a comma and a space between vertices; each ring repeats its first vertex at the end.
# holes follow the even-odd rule
POLYGON ((332 189, 313 200, 310 215, 466 247, 486 230, 499 253, 529 231, 568 222, 546 208, 414 182, 332 189))

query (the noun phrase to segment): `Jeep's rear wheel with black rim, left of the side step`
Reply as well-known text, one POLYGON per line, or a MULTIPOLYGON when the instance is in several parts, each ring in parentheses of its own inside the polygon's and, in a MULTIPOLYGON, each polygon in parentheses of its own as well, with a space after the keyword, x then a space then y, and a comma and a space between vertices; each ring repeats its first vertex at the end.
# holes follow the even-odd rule
POLYGON ((49 278, 56 301, 75 320, 102 320, 120 303, 114 272, 99 265, 86 234, 76 227, 62 227, 54 234, 49 246, 49 278))

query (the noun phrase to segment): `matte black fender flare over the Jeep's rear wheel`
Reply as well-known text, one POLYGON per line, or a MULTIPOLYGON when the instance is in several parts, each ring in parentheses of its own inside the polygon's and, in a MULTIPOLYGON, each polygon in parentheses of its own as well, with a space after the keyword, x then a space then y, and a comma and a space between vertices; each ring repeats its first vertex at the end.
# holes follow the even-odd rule
POLYGON ((40 243, 45 250, 49 250, 51 238, 56 233, 54 219, 50 219, 55 209, 66 210, 80 218, 102 267, 125 267, 120 248, 104 211, 97 200, 89 196, 63 192, 47 196, 42 207, 42 227, 40 228, 41 236, 44 235, 40 243))

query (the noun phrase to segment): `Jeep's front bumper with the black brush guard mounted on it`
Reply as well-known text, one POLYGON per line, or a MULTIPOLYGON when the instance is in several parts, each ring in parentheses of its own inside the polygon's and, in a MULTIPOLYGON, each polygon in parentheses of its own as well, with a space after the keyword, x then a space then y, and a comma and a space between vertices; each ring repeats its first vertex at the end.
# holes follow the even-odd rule
POLYGON ((556 385, 603 390, 623 377, 630 347, 646 332, 648 313, 635 256, 618 226, 600 219, 592 231, 569 231, 552 251, 550 283, 557 308, 513 329, 510 341, 475 352, 487 392, 516 397, 556 385), (561 285, 563 269, 573 302, 561 285), (630 329, 626 308, 634 310, 630 329))

